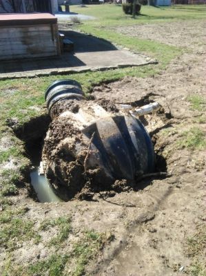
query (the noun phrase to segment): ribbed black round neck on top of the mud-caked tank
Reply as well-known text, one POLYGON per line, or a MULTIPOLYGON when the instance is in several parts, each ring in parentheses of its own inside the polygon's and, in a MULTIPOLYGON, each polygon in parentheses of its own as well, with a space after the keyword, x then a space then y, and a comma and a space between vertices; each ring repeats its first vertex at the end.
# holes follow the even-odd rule
POLYGON ((75 80, 56 80, 45 91, 45 101, 48 108, 48 113, 56 102, 65 99, 81 99, 83 98, 83 91, 81 84, 75 80))

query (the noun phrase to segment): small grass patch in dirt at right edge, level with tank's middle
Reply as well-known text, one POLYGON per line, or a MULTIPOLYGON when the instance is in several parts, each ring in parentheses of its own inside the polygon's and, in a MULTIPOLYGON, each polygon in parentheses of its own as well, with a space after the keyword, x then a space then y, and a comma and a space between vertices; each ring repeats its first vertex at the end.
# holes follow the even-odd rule
POLYGON ((188 131, 183 132, 183 138, 178 142, 179 147, 187 149, 204 149, 206 147, 205 133, 198 127, 192 127, 188 131))

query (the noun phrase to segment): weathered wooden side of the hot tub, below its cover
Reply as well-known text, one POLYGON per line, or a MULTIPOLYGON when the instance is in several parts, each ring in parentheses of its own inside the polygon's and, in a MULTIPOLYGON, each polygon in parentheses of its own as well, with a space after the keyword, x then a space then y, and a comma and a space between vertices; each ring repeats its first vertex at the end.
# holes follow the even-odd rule
POLYGON ((59 55, 56 24, 0 27, 0 59, 59 55))

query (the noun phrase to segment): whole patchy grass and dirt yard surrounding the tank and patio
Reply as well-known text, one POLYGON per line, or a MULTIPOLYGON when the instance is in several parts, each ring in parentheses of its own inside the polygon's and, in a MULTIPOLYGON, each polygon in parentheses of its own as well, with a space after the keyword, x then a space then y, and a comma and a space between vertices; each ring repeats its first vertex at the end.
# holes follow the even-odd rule
POLYGON ((113 4, 70 10, 96 18, 64 23, 64 29, 101 37, 158 64, 0 81, 1 274, 206 275, 206 7, 143 6, 136 19, 113 4), (107 104, 159 102, 164 112, 154 118, 150 136, 157 168, 168 177, 147 178, 95 201, 39 203, 30 186, 30 149, 39 151, 50 122, 45 89, 67 78, 107 104))

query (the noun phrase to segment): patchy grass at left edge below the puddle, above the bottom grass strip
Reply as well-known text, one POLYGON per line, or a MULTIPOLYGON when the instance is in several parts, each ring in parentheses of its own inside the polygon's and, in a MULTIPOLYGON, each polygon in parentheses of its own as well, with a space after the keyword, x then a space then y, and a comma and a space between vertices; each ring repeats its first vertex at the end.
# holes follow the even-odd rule
POLYGON ((45 246, 54 246, 55 249, 61 248, 63 241, 68 239, 72 230, 71 220, 68 217, 58 217, 48 219, 41 223, 39 228, 34 227, 32 219, 24 219, 25 209, 12 210, 7 208, 0 214, 0 246, 11 251, 17 248, 17 244, 22 241, 30 241, 38 244, 41 241, 41 231, 47 231, 56 227, 56 236, 52 237, 45 246))

